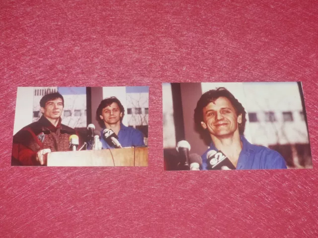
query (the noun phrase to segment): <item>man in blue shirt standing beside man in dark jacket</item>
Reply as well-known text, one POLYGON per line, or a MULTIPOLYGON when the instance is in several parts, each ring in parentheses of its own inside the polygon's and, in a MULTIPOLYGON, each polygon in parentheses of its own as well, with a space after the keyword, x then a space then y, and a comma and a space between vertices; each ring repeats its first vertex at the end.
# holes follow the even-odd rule
MULTIPOLYGON (((115 132, 122 147, 145 146, 143 133, 122 123, 124 115, 125 109, 121 102, 116 97, 110 97, 100 102, 96 111, 96 120, 103 129, 115 132)), ((115 148, 105 141, 103 130, 100 141, 103 149, 115 148)))

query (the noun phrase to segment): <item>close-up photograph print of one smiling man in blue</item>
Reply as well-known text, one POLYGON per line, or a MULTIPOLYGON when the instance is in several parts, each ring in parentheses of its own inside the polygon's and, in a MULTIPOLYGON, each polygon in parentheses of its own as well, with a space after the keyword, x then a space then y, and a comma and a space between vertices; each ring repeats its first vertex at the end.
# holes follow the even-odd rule
POLYGON ((312 169, 301 82, 163 83, 164 170, 312 169))

